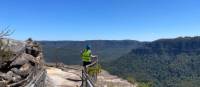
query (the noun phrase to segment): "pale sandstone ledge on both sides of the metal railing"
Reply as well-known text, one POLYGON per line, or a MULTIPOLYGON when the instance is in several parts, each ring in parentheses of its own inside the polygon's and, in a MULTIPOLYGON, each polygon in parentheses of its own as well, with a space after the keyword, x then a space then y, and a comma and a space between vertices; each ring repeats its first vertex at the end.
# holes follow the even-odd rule
MULTIPOLYGON (((48 87, 80 87, 81 86, 81 67, 69 66, 64 70, 47 67, 48 87)), ((97 87, 137 87, 117 76, 110 75, 102 71, 98 75, 97 87)))

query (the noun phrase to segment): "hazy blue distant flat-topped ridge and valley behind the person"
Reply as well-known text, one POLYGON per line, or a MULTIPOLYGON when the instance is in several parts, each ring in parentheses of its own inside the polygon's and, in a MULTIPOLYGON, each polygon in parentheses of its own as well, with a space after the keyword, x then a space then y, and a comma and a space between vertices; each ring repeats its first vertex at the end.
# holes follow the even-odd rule
POLYGON ((112 61, 127 54, 132 49, 142 47, 142 43, 133 40, 91 40, 91 41, 39 41, 47 62, 81 64, 80 53, 87 44, 91 45, 94 55, 100 61, 112 61))

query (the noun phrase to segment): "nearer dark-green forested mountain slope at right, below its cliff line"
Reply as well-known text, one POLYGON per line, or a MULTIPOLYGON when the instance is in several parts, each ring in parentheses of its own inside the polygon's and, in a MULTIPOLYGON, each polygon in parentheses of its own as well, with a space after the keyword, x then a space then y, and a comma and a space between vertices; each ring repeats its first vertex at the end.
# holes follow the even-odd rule
POLYGON ((153 87, 199 87, 199 66, 200 37, 147 43, 106 65, 112 74, 153 87))

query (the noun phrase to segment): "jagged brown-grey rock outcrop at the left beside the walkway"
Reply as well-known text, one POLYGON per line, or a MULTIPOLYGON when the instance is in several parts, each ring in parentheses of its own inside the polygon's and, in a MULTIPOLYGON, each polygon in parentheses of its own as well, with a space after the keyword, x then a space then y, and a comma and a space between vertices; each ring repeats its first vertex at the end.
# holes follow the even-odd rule
MULTIPOLYGON (((0 39, 0 86, 26 87, 40 71, 45 71, 42 52, 33 41, 0 39)), ((38 86, 41 87, 41 86, 38 86)))

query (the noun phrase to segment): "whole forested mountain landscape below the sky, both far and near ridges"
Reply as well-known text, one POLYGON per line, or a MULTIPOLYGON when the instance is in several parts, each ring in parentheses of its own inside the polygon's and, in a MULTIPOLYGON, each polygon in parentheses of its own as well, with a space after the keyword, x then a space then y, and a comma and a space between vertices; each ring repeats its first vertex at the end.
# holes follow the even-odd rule
POLYGON ((132 40, 40 41, 46 61, 81 64, 80 51, 91 44, 103 68, 141 87, 199 87, 200 37, 132 40))

